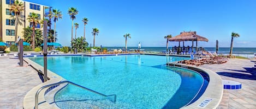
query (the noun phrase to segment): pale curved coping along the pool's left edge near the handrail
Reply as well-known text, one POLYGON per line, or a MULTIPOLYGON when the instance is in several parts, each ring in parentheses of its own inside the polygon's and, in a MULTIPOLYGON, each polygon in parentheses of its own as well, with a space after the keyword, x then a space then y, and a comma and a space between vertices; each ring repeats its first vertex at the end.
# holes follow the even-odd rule
MULTIPOLYGON (((26 62, 28 62, 29 65, 33 66, 36 69, 41 69, 43 71, 43 67, 38 65, 37 63, 24 58, 23 60, 25 60, 26 62)), ((48 74, 48 78, 50 78, 50 80, 48 80, 47 82, 41 83, 38 86, 32 88, 24 97, 23 99, 23 109, 31 109, 34 108, 35 106, 35 93, 37 93, 38 89, 45 86, 45 85, 49 85, 49 84, 53 84, 56 82, 60 82, 63 80, 63 78, 53 72, 51 72, 51 70, 47 70, 47 74, 48 74)), ((44 94, 47 91, 46 89, 43 89, 38 96, 38 102, 43 102, 39 105, 39 108, 56 108, 59 109, 57 106, 54 105, 50 105, 48 102, 46 102, 45 98, 44 98, 44 94)))

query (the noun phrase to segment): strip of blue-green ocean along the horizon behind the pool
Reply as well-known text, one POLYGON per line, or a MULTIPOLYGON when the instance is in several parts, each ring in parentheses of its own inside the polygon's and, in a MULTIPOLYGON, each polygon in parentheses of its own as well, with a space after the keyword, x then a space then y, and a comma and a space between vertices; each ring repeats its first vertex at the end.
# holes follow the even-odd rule
MULTIPOLYGON (((106 47, 108 49, 118 49, 124 47, 106 47)), ((138 47, 127 47, 127 49, 138 49, 138 47)), ((141 49, 144 49, 145 52, 165 52, 166 47, 141 47, 141 49)), ((171 49, 171 47, 169 47, 171 49)), ((205 47, 206 51, 209 52, 216 52, 215 47, 205 47)), ((219 47, 218 54, 228 55, 230 52, 230 47, 219 47)), ((233 48, 233 55, 235 56, 243 56, 252 58, 254 57, 254 53, 256 53, 256 48, 241 48, 241 47, 234 47, 233 48)))

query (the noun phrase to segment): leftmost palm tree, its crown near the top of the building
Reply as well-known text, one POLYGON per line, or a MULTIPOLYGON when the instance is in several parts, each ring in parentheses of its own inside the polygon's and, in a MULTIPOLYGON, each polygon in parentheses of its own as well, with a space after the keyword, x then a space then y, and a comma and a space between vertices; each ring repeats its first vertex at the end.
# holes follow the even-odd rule
POLYGON ((24 4, 19 2, 18 0, 11 4, 11 12, 15 13, 15 42, 17 40, 17 31, 18 31, 18 16, 20 16, 21 12, 24 10, 24 4))

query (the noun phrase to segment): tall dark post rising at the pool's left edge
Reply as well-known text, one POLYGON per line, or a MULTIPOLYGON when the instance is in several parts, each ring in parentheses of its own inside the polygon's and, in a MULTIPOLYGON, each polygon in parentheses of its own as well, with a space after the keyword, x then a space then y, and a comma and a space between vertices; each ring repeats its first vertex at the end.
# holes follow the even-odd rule
POLYGON ((43 28, 43 36, 44 36, 44 82, 47 81, 47 21, 44 20, 44 28, 43 28))

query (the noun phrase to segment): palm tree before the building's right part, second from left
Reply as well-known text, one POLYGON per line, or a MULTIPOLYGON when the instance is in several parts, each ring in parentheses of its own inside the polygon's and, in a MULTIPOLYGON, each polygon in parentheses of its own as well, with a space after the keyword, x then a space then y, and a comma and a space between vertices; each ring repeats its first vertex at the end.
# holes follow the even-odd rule
POLYGON ((32 49, 35 49, 35 25, 39 23, 39 16, 38 14, 35 14, 34 12, 31 13, 31 15, 28 15, 27 18, 28 22, 32 23, 33 27, 33 34, 32 34, 32 49))

